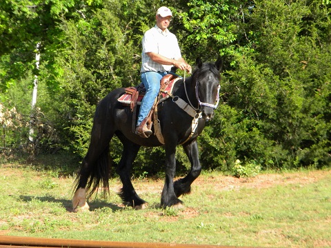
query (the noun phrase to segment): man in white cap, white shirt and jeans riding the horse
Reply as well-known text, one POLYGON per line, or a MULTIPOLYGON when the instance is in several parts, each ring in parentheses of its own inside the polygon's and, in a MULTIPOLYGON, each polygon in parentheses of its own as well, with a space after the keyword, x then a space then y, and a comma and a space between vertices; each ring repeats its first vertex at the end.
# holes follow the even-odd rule
POLYGON ((156 25, 143 35, 141 54, 141 81, 146 94, 141 102, 136 134, 147 138, 152 130, 146 125, 147 116, 159 94, 160 81, 170 72, 172 66, 191 72, 191 66, 181 57, 177 38, 168 30, 172 12, 167 7, 157 10, 156 25))

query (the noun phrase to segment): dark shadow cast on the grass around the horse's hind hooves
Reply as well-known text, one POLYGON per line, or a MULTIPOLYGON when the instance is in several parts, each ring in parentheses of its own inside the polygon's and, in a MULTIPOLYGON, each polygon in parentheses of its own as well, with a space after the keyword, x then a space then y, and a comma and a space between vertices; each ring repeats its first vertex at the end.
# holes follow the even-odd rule
MULTIPOLYGON (((30 202, 31 200, 39 200, 45 203, 60 203, 64 208, 66 208, 66 211, 73 212, 71 200, 57 199, 52 196, 19 196, 19 198, 26 203, 30 202)), ((112 209, 112 211, 120 211, 121 209, 125 208, 100 200, 93 200, 92 202, 89 202, 88 205, 90 206, 90 211, 95 211, 103 207, 109 207, 112 209)))

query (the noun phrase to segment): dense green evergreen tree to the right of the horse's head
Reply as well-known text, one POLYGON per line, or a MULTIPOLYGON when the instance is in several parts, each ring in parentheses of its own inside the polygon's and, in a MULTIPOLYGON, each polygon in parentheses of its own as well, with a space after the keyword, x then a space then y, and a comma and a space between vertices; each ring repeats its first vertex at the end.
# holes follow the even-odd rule
POLYGON ((217 151, 223 167, 237 158, 264 167, 330 165, 329 13, 319 1, 255 1, 243 12, 247 41, 231 54, 222 82, 233 116, 219 111, 230 127, 215 119, 202 136, 208 151, 210 139, 227 144, 227 154, 217 151))

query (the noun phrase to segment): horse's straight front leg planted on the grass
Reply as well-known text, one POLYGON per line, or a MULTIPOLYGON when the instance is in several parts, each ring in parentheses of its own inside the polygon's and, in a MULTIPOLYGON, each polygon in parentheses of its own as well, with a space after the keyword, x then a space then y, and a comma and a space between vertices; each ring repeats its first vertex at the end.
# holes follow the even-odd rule
POLYGON ((165 145, 165 183, 161 195, 161 207, 181 207, 183 203, 174 194, 175 156, 176 146, 165 145))

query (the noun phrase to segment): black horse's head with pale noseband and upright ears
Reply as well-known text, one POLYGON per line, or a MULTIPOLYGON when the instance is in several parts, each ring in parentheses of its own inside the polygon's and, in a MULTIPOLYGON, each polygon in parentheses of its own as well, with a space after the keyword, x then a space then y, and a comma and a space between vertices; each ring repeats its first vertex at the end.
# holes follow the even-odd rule
POLYGON ((198 68, 192 74, 195 82, 195 90, 198 107, 201 108, 202 116, 210 121, 214 115, 214 109, 219 104, 219 81, 221 81, 221 59, 215 63, 202 63, 197 59, 198 68))

